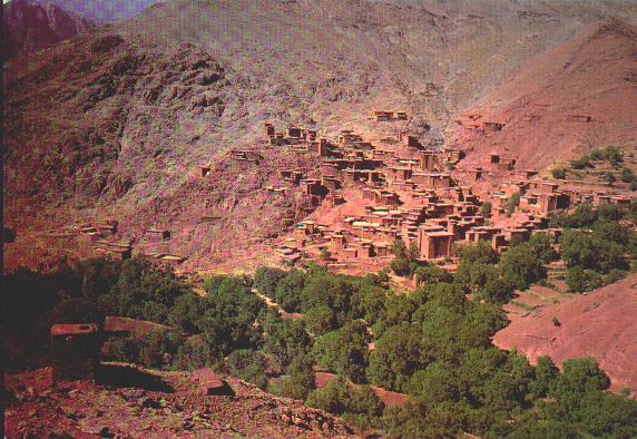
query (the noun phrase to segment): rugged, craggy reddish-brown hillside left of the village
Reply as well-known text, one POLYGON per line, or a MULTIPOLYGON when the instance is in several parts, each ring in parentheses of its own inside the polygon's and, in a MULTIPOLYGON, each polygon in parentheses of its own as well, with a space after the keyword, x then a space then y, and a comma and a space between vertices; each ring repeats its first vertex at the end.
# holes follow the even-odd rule
POLYGON ((227 154, 228 126, 248 113, 231 81, 241 78, 192 46, 161 51, 95 31, 6 67, 4 218, 18 231, 8 267, 85 256, 95 243, 80 245, 72 230, 106 220, 119 222, 111 241, 186 265, 254 265, 259 244, 312 208, 294 188, 268 191, 283 186, 281 169, 312 176, 312 157, 227 154), (171 238, 146 243, 158 227, 171 238))

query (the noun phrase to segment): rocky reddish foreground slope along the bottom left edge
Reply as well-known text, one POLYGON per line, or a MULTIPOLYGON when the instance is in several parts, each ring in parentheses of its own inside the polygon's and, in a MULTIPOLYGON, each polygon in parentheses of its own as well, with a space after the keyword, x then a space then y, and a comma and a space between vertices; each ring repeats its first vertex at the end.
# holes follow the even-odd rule
POLYGON ((188 372, 151 373, 166 389, 92 381, 51 386, 50 369, 8 375, 7 389, 13 399, 6 406, 6 435, 10 438, 356 437, 329 413, 306 408, 302 401, 276 398, 234 378, 225 378, 234 396, 208 397, 200 394, 188 372))

